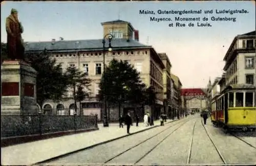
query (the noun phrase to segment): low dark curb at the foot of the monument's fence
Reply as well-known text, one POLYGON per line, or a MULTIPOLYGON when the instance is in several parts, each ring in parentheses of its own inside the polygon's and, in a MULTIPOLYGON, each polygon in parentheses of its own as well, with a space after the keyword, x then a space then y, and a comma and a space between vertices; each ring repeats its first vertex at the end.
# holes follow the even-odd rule
POLYGON ((81 132, 90 132, 90 131, 96 131, 96 130, 99 130, 99 128, 94 127, 94 128, 79 129, 79 130, 68 130, 68 131, 57 131, 57 132, 43 133, 41 135, 33 134, 33 135, 6 137, 6 138, 1 139, 1 148, 8 147, 11 145, 24 144, 24 143, 29 143, 29 142, 33 142, 33 141, 52 139, 54 137, 66 136, 66 135, 72 135, 72 134, 78 134, 81 132))

